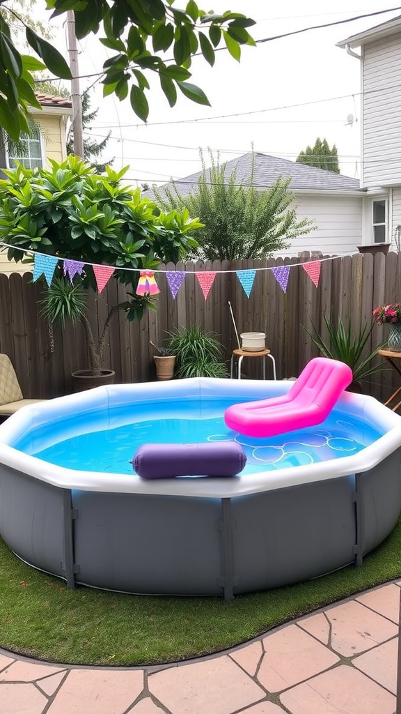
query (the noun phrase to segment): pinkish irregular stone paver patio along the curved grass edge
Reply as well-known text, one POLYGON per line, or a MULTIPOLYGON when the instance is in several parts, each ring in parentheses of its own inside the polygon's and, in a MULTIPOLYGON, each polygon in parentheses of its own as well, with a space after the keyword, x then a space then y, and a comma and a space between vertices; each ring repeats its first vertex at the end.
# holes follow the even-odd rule
POLYGON ((395 714, 400 586, 179 665, 82 668, 0 650, 0 713, 395 714))

